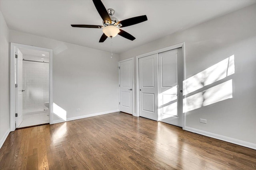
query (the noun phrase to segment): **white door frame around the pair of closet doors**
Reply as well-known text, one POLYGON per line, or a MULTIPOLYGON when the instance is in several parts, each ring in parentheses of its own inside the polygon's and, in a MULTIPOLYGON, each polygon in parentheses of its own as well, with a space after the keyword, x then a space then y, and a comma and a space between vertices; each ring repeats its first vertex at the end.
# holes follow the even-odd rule
MULTIPOLYGON (((137 84, 136 84, 136 114, 134 114, 135 116, 137 116, 137 117, 140 116, 139 83, 138 83, 139 82, 139 59, 142 57, 146 57, 148 55, 153 55, 153 54, 162 53, 165 51, 170 51, 173 49, 178 49, 180 47, 182 48, 182 67, 183 67, 182 79, 184 80, 184 78, 185 78, 185 42, 178 43, 178 44, 172 45, 170 47, 165 47, 162 49, 158 49, 158 50, 155 50, 155 51, 152 51, 149 53, 145 53, 145 54, 136 56, 136 81, 137 81, 137 84)), ((183 89, 186 89, 186 84, 184 84, 183 89)), ((182 96, 182 98, 183 98, 183 96, 182 96)), ((182 108, 183 108, 183 106, 182 106, 182 108)), ((182 113, 182 129, 183 130, 185 130, 185 122, 186 122, 185 115, 186 115, 185 113, 182 113)))

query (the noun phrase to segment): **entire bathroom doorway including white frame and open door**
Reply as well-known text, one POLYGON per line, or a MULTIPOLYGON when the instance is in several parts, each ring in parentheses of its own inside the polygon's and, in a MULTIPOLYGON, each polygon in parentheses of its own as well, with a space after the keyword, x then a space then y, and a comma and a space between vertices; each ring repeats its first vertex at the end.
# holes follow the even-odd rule
POLYGON ((52 50, 11 43, 12 55, 11 130, 51 123, 52 50))

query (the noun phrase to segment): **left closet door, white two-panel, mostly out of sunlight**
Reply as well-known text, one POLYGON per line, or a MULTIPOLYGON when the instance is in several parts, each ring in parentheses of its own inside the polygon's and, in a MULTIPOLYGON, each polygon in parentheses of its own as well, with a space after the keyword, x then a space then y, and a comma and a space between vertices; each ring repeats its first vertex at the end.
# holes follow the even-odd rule
POLYGON ((139 59, 140 116, 158 121, 158 54, 139 59))

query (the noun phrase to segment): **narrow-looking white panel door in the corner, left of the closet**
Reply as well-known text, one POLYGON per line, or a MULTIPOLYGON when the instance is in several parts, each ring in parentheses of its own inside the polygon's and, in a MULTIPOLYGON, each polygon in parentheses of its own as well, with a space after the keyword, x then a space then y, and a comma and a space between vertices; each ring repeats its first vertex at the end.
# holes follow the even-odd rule
POLYGON ((119 99, 120 111, 133 113, 133 61, 128 60, 119 63, 119 99))

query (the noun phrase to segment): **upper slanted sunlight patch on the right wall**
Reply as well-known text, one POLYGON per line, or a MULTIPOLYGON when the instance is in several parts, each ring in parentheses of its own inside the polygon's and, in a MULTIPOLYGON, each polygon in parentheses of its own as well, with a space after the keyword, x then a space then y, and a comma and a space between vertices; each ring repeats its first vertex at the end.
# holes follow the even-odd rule
POLYGON ((186 84, 184 95, 194 92, 204 86, 222 80, 223 78, 235 73, 234 55, 210 66, 198 74, 184 80, 186 84))

